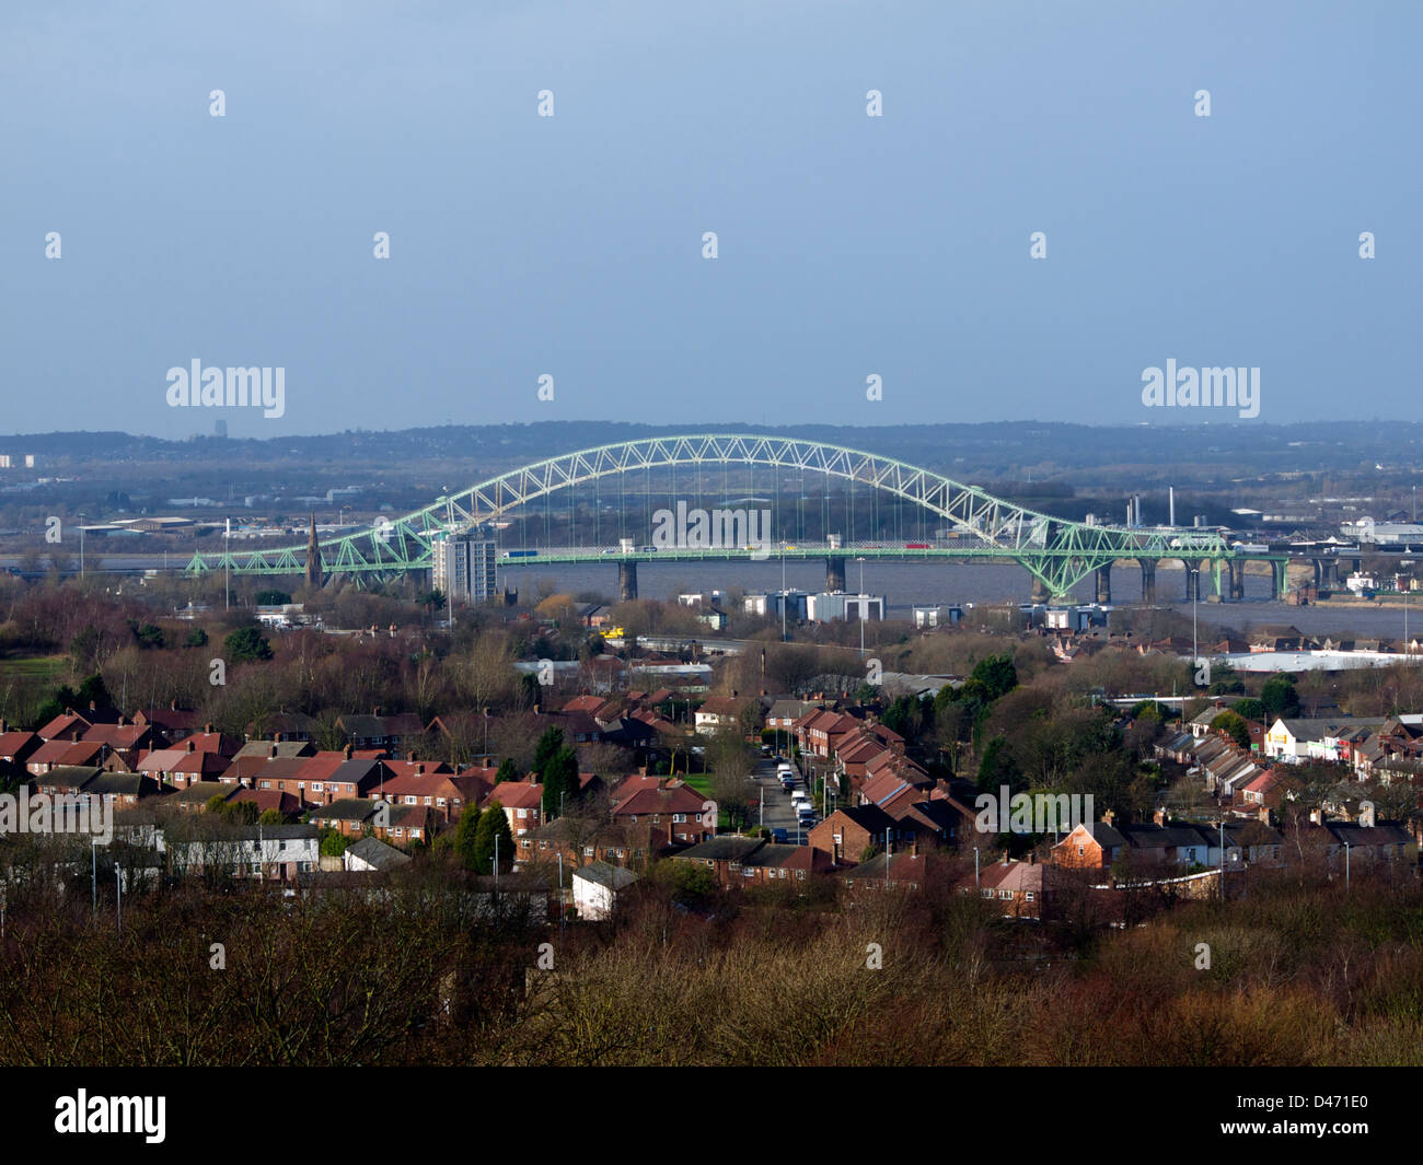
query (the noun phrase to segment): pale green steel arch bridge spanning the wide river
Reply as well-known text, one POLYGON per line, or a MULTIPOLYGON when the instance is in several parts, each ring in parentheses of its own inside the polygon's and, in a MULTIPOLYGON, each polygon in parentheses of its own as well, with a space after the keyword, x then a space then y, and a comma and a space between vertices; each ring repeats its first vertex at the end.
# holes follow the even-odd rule
MULTIPOLYGON (((434 558, 435 539, 491 522, 559 489, 640 469, 733 464, 810 469, 914 502, 951 523, 955 536, 948 539, 948 543, 933 548, 914 550, 875 548, 877 556, 1012 559, 1053 596, 1067 595, 1094 570, 1110 566, 1121 558, 1180 559, 1202 565, 1211 562, 1215 566, 1218 590, 1221 563, 1238 559, 1217 531, 1089 526, 1013 505, 978 486, 963 485, 942 474, 862 449, 793 437, 690 434, 645 437, 601 445, 511 469, 458 494, 441 496, 424 509, 401 518, 381 519, 367 529, 320 541, 317 545, 322 569, 326 573, 356 576, 387 576, 428 569, 434 558)), ((226 568, 236 575, 300 575, 306 569, 306 546, 283 546, 198 553, 186 570, 202 575, 226 568)), ((798 556, 838 558, 859 553, 862 550, 851 548, 821 548, 814 552, 800 550, 798 556)), ((677 556, 750 558, 750 552, 692 550, 677 556)), ((517 565, 609 559, 636 562, 657 558, 636 550, 625 553, 598 548, 566 548, 532 559, 518 559, 517 565)), ((1282 575, 1282 570, 1278 573, 1282 575)))

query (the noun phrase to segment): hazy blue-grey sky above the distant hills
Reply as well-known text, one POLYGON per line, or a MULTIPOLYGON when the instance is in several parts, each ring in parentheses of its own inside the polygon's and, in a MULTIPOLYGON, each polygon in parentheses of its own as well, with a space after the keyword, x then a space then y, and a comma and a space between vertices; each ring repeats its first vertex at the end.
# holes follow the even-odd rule
POLYGON ((1419 420, 1420 33, 1412 0, 14 0, 0 432, 1419 420), (282 368, 280 415, 171 404, 195 360, 282 368), (1259 368, 1258 415, 1143 404, 1168 360, 1259 368))

